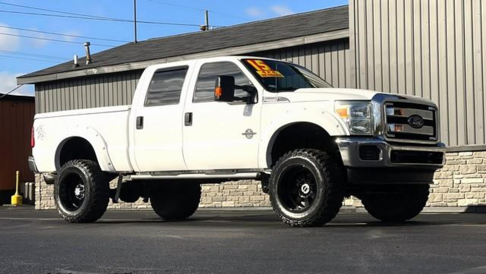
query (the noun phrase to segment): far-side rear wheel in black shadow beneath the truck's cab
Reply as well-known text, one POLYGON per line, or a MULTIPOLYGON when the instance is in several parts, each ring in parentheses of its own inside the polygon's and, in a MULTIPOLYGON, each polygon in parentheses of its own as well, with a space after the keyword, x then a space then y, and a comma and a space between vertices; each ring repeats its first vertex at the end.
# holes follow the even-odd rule
POLYGON ((193 183, 160 183, 151 192, 150 203, 164 220, 183 220, 197 210, 201 200, 201 185, 193 183))

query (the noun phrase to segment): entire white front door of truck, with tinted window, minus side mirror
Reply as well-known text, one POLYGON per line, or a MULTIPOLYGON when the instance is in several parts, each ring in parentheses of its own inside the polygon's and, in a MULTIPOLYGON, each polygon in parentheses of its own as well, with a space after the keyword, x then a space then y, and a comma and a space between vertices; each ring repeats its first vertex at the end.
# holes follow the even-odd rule
POLYGON ((235 77, 235 85, 252 86, 235 63, 213 62, 201 67, 196 83, 191 85, 195 87, 194 92, 188 92, 184 110, 192 113, 191 125, 183 126, 187 168, 257 168, 261 103, 243 102, 243 98, 250 96, 243 90, 235 91, 235 97, 241 101, 214 102, 214 84, 219 75, 235 77))

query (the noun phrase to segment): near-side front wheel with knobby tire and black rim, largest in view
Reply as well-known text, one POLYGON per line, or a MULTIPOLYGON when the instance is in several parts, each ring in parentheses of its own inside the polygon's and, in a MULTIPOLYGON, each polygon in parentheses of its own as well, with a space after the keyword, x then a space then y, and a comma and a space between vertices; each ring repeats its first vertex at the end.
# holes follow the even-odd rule
POLYGON ((269 179, 270 202, 292 226, 319 226, 332 220, 344 199, 344 175, 327 153, 297 149, 284 154, 269 179))

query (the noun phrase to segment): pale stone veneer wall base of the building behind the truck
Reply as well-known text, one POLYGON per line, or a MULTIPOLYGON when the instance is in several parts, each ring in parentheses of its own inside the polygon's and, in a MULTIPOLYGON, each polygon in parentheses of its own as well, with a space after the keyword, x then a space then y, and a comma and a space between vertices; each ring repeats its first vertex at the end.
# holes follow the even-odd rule
MULTIPOLYGON (((486 206, 486 152, 448 153, 444 168, 435 172, 427 206, 486 206)), ((116 181, 111 183, 115 188, 116 181)), ((269 196, 260 182, 242 180, 221 185, 203 185, 200 207, 267 207, 269 196)), ((35 176, 35 209, 53 209, 53 186, 35 176)), ((357 199, 346 199, 346 206, 362 206, 357 199)), ((136 203, 112 204, 109 208, 150 208, 141 199, 136 203)))

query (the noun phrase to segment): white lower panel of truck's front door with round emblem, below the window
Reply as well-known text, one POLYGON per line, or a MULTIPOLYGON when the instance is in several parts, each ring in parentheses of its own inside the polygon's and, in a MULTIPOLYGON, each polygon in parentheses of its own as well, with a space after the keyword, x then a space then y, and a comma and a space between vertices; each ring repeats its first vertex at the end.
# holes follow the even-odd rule
POLYGON ((184 127, 184 158, 189 170, 258 167, 259 105, 195 103, 186 112, 192 112, 192 125, 184 127))

